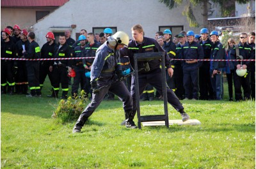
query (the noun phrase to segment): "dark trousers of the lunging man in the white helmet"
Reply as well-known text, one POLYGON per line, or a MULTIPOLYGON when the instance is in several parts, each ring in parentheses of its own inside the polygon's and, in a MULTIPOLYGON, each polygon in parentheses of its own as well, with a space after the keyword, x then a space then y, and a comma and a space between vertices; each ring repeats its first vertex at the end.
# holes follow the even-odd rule
MULTIPOLYGON (((102 87, 106 84, 111 83, 111 79, 98 81, 99 87, 102 87)), ((123 82, 115 82, 108 87, 104 87, 97 94, 92 94, 92 101, 88 104, 88 106, 84 109, 82 114, 79 116, 79 119, 76 122, 76 126, 83 126, 86 120, 93 114, 95 109, 99 107, 101 101, 108 91, 113 92, 118 96, 121 101, 123 101, 123 107, 125 112, 129 112, 132 110, 132 97, 128 89, 125 87, 123 82)))

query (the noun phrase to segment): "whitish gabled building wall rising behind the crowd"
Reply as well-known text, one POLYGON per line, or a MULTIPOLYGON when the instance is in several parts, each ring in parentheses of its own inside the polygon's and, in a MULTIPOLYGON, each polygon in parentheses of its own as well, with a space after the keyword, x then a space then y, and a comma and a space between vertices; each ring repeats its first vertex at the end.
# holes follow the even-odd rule
POLYGON ((70 0, 33 25, 33 31, 40 46, 45 43, 49 27, 70 27, 72 24, 77 26, 72 29, 71 37, 74 39, 81 29, 90 33, 92 27, 106 26, 117 27, 117 31, 125 31, 132 38, 131 27, 135 24, 141 24, 145 36, 151 38, 159 26, 184 26, 185 31, 198 31, 199 28, 189 28, 186 17, 182 15, 183 8, 169 10, 158 0, 70 0))

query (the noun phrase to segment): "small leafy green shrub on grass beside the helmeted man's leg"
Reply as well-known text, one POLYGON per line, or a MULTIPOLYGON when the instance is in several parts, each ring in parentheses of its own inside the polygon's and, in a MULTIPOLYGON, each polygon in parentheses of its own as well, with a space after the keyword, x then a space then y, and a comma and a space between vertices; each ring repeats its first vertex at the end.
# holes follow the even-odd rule
POLYGON ((76 121, 84 110, 87 97, 86 93, 81 91, 80 96, 68 97, 67 101, 61 99, 56 105, 52 117, 60 120, 61 124, 76 121))

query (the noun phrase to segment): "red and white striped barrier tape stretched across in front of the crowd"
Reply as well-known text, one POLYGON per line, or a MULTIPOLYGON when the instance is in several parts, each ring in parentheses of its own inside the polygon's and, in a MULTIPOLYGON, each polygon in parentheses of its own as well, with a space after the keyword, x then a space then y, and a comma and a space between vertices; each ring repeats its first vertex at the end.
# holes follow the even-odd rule
MULTIPOLYGON (((93 59, 95 57, 65 57, 65 58, 47 58, 47 59, 23 59, 23 58, 7 58, 1 57, 1 60, 13 60, 13 61, 54 61, 54 60, 72 60, 72 59, 93 59)), ((191 59, 171 59, 174 61, 191 61, 191 59)), ((240 59, 192 59, 195 61, 241 61, 240 59)), ((255 59, 243 59, 243 61, 255 61, 255 59)))

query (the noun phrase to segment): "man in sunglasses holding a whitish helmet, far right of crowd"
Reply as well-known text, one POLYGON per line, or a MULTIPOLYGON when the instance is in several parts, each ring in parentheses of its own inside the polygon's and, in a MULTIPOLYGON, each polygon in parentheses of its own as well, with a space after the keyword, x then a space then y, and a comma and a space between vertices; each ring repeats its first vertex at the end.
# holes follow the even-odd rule
POLYGON ((246 74, 243 77, 234 73, 234 86, 235 86, 235 99, 236 101, 248 100, 250 99, 251 88, 250 88, 250 61, 243 61, 243 59, 255 59, 255 50, 246 43, 247 34, 240 34, 240 42, 238 44, 239 47, 239 55, 236 54, 236 47, 231 51, 230 57, 231 59, 238 59, 237 61, 233 61, 236 70, 247 70, 246 74), (241 87, 244 90, 244 98, 242 96, 241 87))

